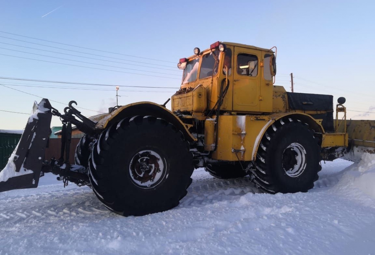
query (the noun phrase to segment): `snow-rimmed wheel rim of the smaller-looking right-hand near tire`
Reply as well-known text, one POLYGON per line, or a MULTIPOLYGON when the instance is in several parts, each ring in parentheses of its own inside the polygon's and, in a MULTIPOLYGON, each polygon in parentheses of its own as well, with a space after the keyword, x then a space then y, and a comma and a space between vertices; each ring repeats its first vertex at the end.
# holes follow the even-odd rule
POLYGON ((294 142, 285 148, 281 160, 285 173, 290 177, 297 177, 305 171, 306 150, 301 144, 294 142))

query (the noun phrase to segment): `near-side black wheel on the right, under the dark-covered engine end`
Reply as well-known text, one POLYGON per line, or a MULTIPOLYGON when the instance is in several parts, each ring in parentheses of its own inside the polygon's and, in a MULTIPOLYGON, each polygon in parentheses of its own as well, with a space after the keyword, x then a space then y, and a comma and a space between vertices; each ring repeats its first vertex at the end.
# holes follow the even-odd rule
POLYGON ((250 176, 267 193, 307 192, 318 180, 320 150, 307 124, 278 120, 263 136, 250 176))

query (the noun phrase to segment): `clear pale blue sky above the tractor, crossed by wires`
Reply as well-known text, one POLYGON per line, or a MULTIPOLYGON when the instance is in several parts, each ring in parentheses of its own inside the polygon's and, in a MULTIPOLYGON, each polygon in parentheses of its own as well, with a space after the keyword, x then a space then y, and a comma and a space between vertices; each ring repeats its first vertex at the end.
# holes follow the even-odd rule
MULTIPOLYGON (((75 100, 93 110, 84 115, 95 115, 116 104, 119 85, 119 105, 162 104, 180 86, 178 60, 217 40, 277 46, 276 85, 290 91, 293 72, 294 92, 344 96, 348 118, 375 119, 365 113, 375 113, 374 7, 329 0, 0 1, 0 77, 114 85, 0 79, 0 129, 23 129, 28 115, 20 113, 30 113, 37 96, 63 103, 51 102, 60 111, 75 100)), ((57 117, 52 125, 60 126, 57 117)))

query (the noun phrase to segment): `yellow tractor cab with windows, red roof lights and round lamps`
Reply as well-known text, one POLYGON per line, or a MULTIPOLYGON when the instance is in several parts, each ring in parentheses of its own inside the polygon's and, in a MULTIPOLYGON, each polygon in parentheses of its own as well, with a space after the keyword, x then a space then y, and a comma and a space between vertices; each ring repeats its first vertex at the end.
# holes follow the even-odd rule
POLYGON ((194 55, 181 58, 177 66, 183 69, 183 75, 181 89, 172 96, 174 112, 206 115, 216 107, 220 95, 224 111, 273 110, 276 61, 270 49, 215 42, 204 51, 195 48, 194 55))

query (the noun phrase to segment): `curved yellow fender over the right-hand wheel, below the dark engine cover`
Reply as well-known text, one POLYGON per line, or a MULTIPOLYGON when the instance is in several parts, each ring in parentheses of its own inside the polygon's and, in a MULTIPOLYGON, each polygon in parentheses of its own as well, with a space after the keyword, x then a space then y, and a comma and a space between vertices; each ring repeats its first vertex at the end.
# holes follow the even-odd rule
POLYGON ((269 121, 266 125, 263 126, 263 128, 258 133, 257 138, 254 141, 253 151, 252 151, 252 160, 255 161, 257 158, 257 151, 261 142, 261 139, 263 138, 264 134, 266 133, 267 129, 275 123, 275 121, 281 119, 281 118, 292 118, 294 120, 300 120, 303 123, 306 123, 309 125, 311 129, 314 129, 315 133, 325 133, 323 126, 321 125, 320 121, 314 119, 311 117, 311 115, 305 114, 305 113, 275 113, 272 115, 269 115, 269 121))

